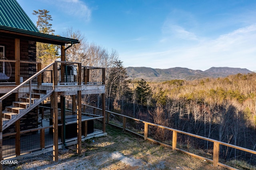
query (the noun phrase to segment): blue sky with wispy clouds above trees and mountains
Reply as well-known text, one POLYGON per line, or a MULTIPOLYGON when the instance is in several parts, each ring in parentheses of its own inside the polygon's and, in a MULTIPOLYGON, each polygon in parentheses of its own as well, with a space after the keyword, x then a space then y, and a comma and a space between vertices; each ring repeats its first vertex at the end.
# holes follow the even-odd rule
POLYGON ((55 34, 116 49, 124 67, 256 70, 256 0, 17 1, 34 23, 50 11, 55 34))

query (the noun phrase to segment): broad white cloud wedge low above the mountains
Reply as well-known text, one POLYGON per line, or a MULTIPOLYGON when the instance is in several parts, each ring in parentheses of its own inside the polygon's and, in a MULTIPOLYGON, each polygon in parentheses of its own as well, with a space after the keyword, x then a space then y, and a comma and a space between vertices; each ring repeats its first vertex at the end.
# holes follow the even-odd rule
MULTIPOLYGON (((240 67, 256 70, 256 24, 240 28, 212 40, 200 40, 186 47, 169 47, 133 55, 129 66, 153 68, 187 67, 206 70, 210 67, 240 67), (150 61, 149 63, 146 63, 150 61)), ((131 56, 131 55, 130 55, 131 56)), ((126 62, 124 62, 126 63, 126 62)))

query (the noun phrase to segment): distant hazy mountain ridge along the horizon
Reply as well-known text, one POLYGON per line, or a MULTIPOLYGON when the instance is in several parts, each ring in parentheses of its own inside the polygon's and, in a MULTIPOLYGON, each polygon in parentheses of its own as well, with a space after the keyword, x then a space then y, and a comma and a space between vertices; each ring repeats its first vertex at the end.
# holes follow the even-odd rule
POLYGON ((193 70, 184 67, 168 69, 153 69, 151 67, 126 67, 128 78, 145 79, 146 81, 167 81, 172 79, 195 80, 202 78, 217 78, 235 75, 238 73, 253 73, 245 68, 234 67, 211 67, 205 71, 193 70))

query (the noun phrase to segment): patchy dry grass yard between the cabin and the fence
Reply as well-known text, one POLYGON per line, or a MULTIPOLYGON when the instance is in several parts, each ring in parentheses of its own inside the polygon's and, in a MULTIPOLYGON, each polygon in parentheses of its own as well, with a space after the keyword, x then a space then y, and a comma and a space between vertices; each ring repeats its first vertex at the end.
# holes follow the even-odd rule
POLYGON ((59 150, 59 161, 52 161, 52 152, 18 160, 18 165, 4 169, 95 169, 95 170, 220 170, 211 163, 178 151, 172 151, 137 136, 107 126, 108 136, 82 143, 82 155, 76 145, 59 150))

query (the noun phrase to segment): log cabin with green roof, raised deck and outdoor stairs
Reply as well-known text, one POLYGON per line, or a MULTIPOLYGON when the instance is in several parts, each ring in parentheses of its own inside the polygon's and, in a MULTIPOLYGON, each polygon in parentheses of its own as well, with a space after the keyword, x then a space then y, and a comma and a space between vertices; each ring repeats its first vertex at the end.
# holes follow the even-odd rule
POLYGON ((106 134, 105 110, 86 114, 82 104, 82 95, 101 94, 105 107, 105 68, 66 62, 66 49, 76 43, 40 33, 16 0, 0 1, 1 160, 50 147, 58 161, 59 145, 77 140, 80 154, 87 134, 106 134), (60 45, 61 61, 42 68, 36 42, 60 45))

